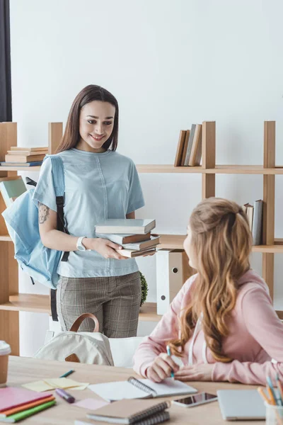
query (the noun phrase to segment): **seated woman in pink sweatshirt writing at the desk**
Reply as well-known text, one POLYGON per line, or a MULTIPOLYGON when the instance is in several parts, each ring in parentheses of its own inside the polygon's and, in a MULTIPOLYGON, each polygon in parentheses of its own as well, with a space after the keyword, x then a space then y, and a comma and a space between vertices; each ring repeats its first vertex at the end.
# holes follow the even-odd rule
POLYGON ((191 276, 134 355, 134 370, 154 382, 262 384, 283 378, 283 324, 267 284, 250 268, 246 213, 221 198, 203 200, 190 217, 184 249, 191 276), (166 354, 183 361, 179 367, 166 354), (275 360, 273 360, 275 359, 275 360))

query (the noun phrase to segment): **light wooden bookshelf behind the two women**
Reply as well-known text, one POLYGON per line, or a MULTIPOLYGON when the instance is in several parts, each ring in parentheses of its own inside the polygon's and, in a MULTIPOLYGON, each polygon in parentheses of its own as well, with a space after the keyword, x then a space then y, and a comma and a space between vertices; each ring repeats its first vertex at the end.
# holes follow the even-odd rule
MULTIPOLYGON (((49 124, 49 153, 56 152, 62 138, 62 123, 49 124)), ((17 145, 16 123, 0 123, 0 161, 4 161, 6 151, 17 145)), ((264 160, 262 165, 216 165, 215 122, 202 124, 202 166, 178 166, 168 164, 137 165, 139 173, 195 173, 202 174, 202 198, 215 196, 216 174, 258 174, 263 177, 263 242, 253 246, 253 252, 262 253, 262 276, 273 296, 274 254, 283 253, 283 238, 275 239, 275 175, 283 174, 283 166, 275 166, 275 122, 264 125, 264 160)), ((0 177, 15 176, 17 171, 39 171, 40 166, 5 167, 0 166, 0 177)), ((0 214, 5 205, 0 195, 0 214)), ((185 235, 161 234, 159 249, 183 249, 185 235)), ((19 353, 18 312, 50 314, 49 295, 18 293, 18 264, 13 259, 13 244, 8 236, 3 217, 0 215, 0 339, 8 341, 12 353, 19 353)), ((283 311, 277 311, 283 319, 283 311)), ((156 303, 142 305, 139 319, 158 322, 156 303)))

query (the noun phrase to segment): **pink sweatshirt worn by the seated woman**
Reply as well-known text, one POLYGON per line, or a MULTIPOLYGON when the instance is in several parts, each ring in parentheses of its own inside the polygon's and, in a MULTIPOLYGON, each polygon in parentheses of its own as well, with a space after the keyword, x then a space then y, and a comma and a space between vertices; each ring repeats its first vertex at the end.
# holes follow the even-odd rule
MULTIPOLYGON (((191 276, 185 282, 168 312, 134 354, 134 370, 140 375, 146 377, 146 369, 156 356, 166 353, 166 341, 178 338, 178 317, 192 296, 192 283, 196 277, 191 276)), ((267 285, 258 273, 250 270, 241 277, 238 286, 236 305, 228 322, 229 336, 223 341, 223 351, 233 361, 215 361, 207 347, 207 362, 214 363, 212 380, 265 385, 267 375, 275 383, 277 372, 283 380, 283 323, 272 307, 267 285)), ((182 357, 185 365, 188 363, 190 341, 185 344, 182 357)), ((203 343, 201 330, 193 345, 193 363, 204 363, 203 343)))

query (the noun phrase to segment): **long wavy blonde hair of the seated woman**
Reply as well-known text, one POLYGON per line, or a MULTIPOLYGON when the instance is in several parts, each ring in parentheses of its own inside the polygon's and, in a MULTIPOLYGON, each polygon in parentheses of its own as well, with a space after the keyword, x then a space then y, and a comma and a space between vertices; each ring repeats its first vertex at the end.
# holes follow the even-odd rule
POLYGON ((182 356, 202 313, 202 329, 216 361, 232 359, 222 352, 227 320, 236 304, 237 282, 250 268, 252 235, 243 209, 222 198, 202 200, 190 216, 191 248, 197 254, 197 278, 192 298, 180 318, 180 339, 168 341, 182 356))

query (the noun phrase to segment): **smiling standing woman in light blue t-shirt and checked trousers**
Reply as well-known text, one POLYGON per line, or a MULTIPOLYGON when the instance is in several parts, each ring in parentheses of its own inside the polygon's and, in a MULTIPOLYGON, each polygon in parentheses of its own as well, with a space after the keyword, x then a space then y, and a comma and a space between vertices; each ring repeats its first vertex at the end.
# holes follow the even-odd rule
MULTIPOLYGON (((57 154, 64 164, 64 218, 69 234, 57 230, 52 163, 40 169, 33 199, 39 205, 42 243, 69 251, 57 273, 57 311, 64 331, 90 312, 100 331, 111 338, 137 335, 141 281, 137 263, 115 251, 121 248, 96 237, 95 227, 107 218, 134 218, 144 206, 134 162, 116 152, 119 108, 100 86, 86 86, 71 106, 57 154)), ((86 319, 80 330, 93 331, 86 319)))

